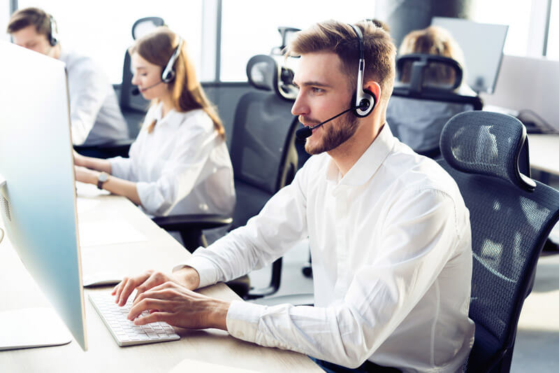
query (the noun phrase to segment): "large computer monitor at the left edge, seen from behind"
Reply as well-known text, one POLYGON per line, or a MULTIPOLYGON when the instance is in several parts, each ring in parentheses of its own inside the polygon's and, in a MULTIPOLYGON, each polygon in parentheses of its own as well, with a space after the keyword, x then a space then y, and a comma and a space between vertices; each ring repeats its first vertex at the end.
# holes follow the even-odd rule
MULTIPOLYGON (((4 41, 0 55, 0 216, 27 271, 87 350, 64 63, 4 41)), ((8 343, 0 349, 36 346, 33 336, 31 342, 13 336, 9 346, 0 334, 8 343)))

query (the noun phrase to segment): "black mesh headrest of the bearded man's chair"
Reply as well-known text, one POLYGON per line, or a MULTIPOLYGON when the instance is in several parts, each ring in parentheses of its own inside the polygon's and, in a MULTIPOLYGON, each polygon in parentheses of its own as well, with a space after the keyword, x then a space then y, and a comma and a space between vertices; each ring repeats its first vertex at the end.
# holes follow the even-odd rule
POLYGON ((444 160, 458 171, 495 176, 523 190, 536 187, 519 170, 519 162, 529 169, 528 139, 524 125, 511 115, 489 111, 456 114, 442 129, 440 149, 444 160))

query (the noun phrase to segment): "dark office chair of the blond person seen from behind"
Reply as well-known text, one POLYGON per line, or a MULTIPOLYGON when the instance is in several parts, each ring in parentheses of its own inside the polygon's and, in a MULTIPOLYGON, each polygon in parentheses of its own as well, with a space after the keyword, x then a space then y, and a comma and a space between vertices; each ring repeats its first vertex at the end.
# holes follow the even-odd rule
POLYGON ((416 141, 414 131, 421 129, 416 129, 414 124, 406 125, 406 121, 421 119, 409 115, 409 111, 418 111, 416 114, 424 115, 424 121, 428 113, 423 111, 433 110, 429 127, 440 133, 444 123, 453 115, 472 109, 481 110, 483 102, 477 95, 456 92, 462 84, 463 69, 451 58, 424 54, 403 55, 396 61, 396 71, 398 76, 392 93, 394 98, 389 101, 387 109, 387 121, 392 125, 394 135, 404 143, 410 141, 409 145, 416 153, 436 158, 440 156, 438 141, 433 141, 433 148, 429 149, 420 148, 411 142, 416 141), (416 100, 429 101, 429 104, 416 108, 416 100), (403 132, 404 130, 408 133, 403 132))

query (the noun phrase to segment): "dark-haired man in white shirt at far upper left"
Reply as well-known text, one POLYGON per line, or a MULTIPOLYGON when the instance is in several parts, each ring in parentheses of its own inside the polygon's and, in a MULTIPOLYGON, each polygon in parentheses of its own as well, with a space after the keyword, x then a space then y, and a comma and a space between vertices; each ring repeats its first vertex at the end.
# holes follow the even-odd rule
POLYGON ((74 145, 128 139, 128 127, 108 78, 91 58, 62 48, 56 31, 55 19, 39 8, 17 10, 7 29, 17 45, 66 64, 74 145))

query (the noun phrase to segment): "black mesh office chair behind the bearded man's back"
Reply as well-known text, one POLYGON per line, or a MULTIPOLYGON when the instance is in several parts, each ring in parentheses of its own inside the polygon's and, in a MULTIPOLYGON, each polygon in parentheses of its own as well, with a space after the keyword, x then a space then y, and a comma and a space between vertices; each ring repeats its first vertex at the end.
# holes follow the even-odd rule
POLYGON ((440 148, 437 162, 458 183, 472 225, 476 329, 467 372, 509 372, 518 317, 559 219, 559 192, 529 177, 525 127, 509 115, 457 114, 440 148))

